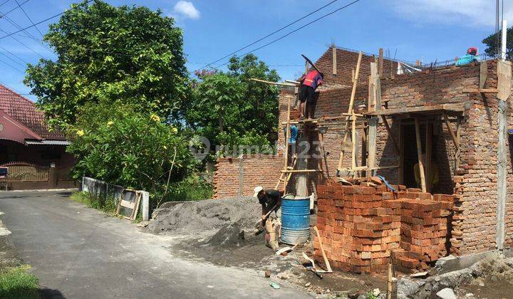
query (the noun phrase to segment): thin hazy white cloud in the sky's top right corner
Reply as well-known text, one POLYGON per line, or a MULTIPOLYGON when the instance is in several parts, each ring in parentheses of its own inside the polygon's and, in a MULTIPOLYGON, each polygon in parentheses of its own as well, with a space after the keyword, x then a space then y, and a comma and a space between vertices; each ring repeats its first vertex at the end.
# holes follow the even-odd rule
MULTIPOLYGON (((443 22, 462 26, 495 25, 495 1, 490 0, 393 0, 398 14, 418 23, 443 22)), ((513 5, 504 4, 504 19, 513 25, 513 5)))

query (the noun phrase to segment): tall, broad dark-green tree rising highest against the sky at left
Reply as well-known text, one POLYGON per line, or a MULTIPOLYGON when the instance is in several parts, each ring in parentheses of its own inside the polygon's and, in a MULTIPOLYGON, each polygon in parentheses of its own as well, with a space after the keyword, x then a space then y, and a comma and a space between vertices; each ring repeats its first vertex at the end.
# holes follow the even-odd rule
POLYGON ((182 31, 161 11, 83 1, 50 26, 44 41, 57 59, 28 65, 25 83, 50 125, 73 125, 88 103, 180 117, 187 98, 182 31))

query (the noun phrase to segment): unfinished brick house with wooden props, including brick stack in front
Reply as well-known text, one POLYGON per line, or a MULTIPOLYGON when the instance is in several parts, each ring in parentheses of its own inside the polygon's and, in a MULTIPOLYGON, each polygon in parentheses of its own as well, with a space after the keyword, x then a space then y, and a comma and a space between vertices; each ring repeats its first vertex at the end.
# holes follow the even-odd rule
MULTIPOLYGON (((314 122, 296 122, 294 113, 287 120, 289 103, 296 99, 294 90, 281 90, 279 99, 279 132, 289 122, 303 128, 305 135, 310 132, 306 138, 320 144, 309 152, 316 155, 308 168, 316 169, 309 177, 316 183, 311 191, 318 197, 317 226, 333 266, 383 271, 390 253, 396 251, 395 263, 412 271, 447 254, 511 248, 513 194, 508 190, 513 184, 513 147, 507 134, 513 116, 511 63, 489 60, 390 75, 397 64, 384 60, 374 65, 369 77, 374 58, 363 56, 353 88, 358 53, 346 52, 350 51, 329 48, 316 62, 329 75, 318 92, 314 122), (345 55, 348 61, 356 59, 345 63, 340 60, 345 55), (349 109, 352 93, 353 110, 349 109), (346 131, 351 132, 344 143, 346 131), (396 192, 383 185, 347 187, 337 182, 338 176, 371 173, 384 177, 396 192)), ((285 140, 280 134, 282 149, 285 140)), ((275 165, 276 173, 260 174, 268 182, 264 187, 274 187, 269 182, 277 182, 284 169, 283 151, 278 157, 247 157, 232 164, 220 160, 214 181, 217 194, 223 190, 223 195, 247 195, 242 187, 237 189, 239 184, 256 185, 261 179, 254 173, 246 178, 236 170, 240 167, 227 169, 234 163, 258 165, 260 159, 266 159, 269 167, 275 165)), ((319 245, 316 239, 316 259, 322 261, 319 245)))

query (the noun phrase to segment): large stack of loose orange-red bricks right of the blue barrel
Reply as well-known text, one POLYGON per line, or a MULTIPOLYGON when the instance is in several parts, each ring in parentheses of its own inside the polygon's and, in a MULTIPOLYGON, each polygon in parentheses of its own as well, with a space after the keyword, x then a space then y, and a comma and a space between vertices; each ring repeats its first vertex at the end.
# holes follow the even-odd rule
MULTIPOLYGON (((354 273, 386 271, 390 252, 403 272, 426 268, 445 256, 450 204, 431 194, 384 186, 319 185, 317 227, 333 268, 354 273), (397 198, 397 196, 396 196, 397 198)), ((450 196, 449 196, 450 197, 450 196)), ((323 263, 318 238, 316 261, 323 263)))

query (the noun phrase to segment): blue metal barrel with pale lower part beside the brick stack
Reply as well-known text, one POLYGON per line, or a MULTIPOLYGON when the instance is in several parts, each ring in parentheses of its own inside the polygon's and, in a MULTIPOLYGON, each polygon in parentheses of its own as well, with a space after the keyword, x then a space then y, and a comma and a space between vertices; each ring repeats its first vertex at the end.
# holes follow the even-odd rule
POLYGON ((310 197, 281 198, 281 243, 306 243, 310 237, 310 197))

